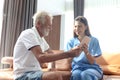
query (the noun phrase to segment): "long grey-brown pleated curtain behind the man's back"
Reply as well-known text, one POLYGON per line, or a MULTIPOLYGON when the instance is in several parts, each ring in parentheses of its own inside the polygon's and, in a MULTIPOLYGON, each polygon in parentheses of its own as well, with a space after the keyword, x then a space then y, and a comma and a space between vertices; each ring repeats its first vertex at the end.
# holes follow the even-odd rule
POLYGON ((4 0, 0 60, 12 56, 14 44, 20 32, 32 27, 37 0, 4 0))

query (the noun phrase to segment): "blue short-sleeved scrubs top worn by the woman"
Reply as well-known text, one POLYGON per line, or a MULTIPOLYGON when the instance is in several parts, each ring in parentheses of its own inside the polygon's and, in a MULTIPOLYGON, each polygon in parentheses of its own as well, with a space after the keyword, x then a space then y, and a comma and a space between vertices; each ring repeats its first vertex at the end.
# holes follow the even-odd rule
MULTIPOLYGON (((80 41, 77 37, 74 37, 67 43, 65 50, 68 51, 77 45, 80 45, 80 41)), ((91 40, 88 44, 88 50, 89 50, 90 54, 94 57, 98 57, 102 54, 100 45, 99 45, 99 41, 97 38, 91 37, 91 40)), ((102 69, 100 68, 100 66, 98 64, 96 64, 96 62, 94 62, 94 64, 89 63, 84 52, 82 52, 79 56, 73 58, 72 71, 74 71, 76 69, 86 70, 89 68, 96 69, 98 72, 102 73, 102 69)))

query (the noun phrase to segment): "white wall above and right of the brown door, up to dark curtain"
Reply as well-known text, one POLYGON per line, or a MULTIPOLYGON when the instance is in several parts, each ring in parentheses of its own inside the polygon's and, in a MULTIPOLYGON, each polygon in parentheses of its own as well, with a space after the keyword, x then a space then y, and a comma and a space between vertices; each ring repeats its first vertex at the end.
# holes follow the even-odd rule
POLYGON ((73 0, 38 0, 37 11, 45 10, 53 15, 61 15, 60 49, 72 36, 73 0))

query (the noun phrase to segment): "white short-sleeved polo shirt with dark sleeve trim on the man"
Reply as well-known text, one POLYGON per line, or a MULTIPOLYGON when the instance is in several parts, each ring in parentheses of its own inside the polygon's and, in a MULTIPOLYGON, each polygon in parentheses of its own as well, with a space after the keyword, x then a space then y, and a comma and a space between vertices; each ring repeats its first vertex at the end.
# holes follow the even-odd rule
POLYGON ((14 47, 14 78, 20 77, 27 71, 41 71, 39 62, 34 54, 29 50, 33 46, 40 45, 42 51, 49 49, 49 45, 43 37, 40 37, 36 28, 24 30, 14 47))

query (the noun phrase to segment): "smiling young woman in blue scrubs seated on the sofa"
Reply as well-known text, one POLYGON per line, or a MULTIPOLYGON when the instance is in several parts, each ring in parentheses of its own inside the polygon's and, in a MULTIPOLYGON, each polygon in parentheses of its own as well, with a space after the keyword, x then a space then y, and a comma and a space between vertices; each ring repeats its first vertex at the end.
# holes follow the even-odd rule
POLYGON ((95 58, 101 55, 101 49, 97 38, 89 31, 87 19, 83 16, 75 18, 74 37, 67 43, 66 50, 79 46, 81 53, 72 60, 71 80, 99 80, 103 71, 96 63, 95 58))

